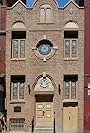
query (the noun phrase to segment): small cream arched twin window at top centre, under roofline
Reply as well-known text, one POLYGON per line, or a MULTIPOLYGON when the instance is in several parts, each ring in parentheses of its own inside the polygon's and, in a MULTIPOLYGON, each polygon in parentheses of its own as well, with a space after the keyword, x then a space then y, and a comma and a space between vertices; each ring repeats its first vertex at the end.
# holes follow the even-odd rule
POLYGON ((52 10, 51 6, 44 4, 40 7, 40 23, 51 23, 52 22, 52 10))

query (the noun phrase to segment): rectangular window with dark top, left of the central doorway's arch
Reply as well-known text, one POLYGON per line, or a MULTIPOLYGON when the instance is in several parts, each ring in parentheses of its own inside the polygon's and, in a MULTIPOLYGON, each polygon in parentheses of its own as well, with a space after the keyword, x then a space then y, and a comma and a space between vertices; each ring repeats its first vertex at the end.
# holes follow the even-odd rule
POLYGON ((25 76, 11 76, 12 99, 24 99, 25 76))

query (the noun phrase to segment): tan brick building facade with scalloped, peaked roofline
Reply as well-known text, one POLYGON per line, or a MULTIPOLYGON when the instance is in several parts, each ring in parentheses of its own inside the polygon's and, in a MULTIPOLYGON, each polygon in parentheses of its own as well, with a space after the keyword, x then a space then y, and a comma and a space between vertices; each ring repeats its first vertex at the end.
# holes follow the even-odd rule
POLYGON ((17 1, 6 15, 8 131, 84 130, 84 9, 17 1))

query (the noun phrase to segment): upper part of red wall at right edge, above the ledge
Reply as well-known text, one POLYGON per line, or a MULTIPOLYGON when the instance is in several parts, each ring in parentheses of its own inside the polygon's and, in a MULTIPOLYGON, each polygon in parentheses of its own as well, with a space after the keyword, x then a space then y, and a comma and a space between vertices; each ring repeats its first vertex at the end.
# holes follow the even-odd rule
POLYGON ((90 74, 90 0, 85 0, 85 74, 90 74))

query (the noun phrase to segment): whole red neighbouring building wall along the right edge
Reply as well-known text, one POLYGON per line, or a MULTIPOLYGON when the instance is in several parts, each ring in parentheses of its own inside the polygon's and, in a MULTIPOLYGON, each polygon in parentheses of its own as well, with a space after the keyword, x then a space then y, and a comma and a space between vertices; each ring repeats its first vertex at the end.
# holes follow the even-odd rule
MULTIPOLYGON (((84 1, 85 7, 85 75, 90 75, 90 0, 84 1)), ((90 96, 88 96, 88 83, 90 83, 90 77, 85 76, 85 93, 84 93, 84 128, 90 131, 90 96)))

